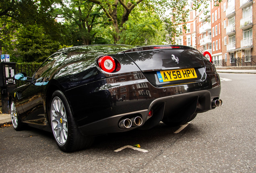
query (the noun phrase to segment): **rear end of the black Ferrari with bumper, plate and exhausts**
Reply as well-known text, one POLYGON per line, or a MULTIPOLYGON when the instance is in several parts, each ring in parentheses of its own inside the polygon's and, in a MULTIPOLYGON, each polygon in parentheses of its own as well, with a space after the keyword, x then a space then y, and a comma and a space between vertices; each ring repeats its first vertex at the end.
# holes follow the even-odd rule
MULTIPOLYGON (((99 55, 95 64, 104 77, 77 87, 86 97, 85 107, 76 109, 85 134, 149 129, 163 120, 181 122, 215 109, 213 102, 219 101, 215 66, 188 46, 136 47, 99 55)), ((71 89, 68 95, 75 92, 71 89)))

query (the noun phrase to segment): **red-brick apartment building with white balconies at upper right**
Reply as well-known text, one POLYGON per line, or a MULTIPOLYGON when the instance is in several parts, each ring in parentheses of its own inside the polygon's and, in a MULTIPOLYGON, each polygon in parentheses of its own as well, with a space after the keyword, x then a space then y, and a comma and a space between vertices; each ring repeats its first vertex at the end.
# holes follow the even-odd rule
POLYGON ((252 0, 207 4, 190 10, 187 31, 180 26, 182 35, 175 38, 176 44, 209 51, 216 66, 256 65, 256 4, 252 0))

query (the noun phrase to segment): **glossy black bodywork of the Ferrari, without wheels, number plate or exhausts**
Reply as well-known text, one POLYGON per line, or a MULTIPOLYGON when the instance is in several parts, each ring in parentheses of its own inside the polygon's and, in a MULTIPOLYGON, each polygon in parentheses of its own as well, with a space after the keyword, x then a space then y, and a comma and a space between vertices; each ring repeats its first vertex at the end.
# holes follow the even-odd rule
POLYGON ((211 102, 219 98, 221 91, 214 65, 188 46, 154 47, 157 46, 64 48, 45 60, 32 81, 15 89, 10 100, 14 100, 23 122, 50 131, 50 99, 54 91, 60 90, 70 104, 78 128, 86 135, 136 128, 118 127, 118 122, 126 117, 142 117, 140 128, 147 129, 163 118, 168 119, 170 113, 183 119, 184 115, 213 109, 211 102), (114 73, 101 70, 97 60, 103 55, 118 60, 121 69, 114 73), (157 70, 180 68, 195 68, 198 78, 158 81, 157 70), (147 117, 150 109, 155 110, 151 118, 147 117), (183 110, 182 114, 179 110, 183 110))

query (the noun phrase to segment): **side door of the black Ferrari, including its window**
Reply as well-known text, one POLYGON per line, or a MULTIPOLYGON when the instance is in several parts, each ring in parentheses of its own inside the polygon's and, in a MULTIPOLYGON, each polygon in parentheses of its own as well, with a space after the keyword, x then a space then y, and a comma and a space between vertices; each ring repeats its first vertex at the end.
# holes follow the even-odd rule
POLYGON ((42 89, 45 86, 44 79, 52 70, 56 59, 60 56, 60 53, 53 54, 38 68, 32 77, 32 81, 27 84, 21 95, 20 103, 23 108, 23 121, 33 124, 44 125, 46 122, 46 115, 43 106, 42 89))

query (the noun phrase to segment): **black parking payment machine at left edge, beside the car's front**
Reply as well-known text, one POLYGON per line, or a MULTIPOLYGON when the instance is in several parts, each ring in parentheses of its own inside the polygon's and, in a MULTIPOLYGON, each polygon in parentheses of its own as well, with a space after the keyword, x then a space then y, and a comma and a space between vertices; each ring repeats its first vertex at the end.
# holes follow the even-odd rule
POLYGON ((0 63, 0 88, 2 99, 2 113, 10 113, 9 93, 16 88, 14 74, 16 73, 16 62, 0 63))

